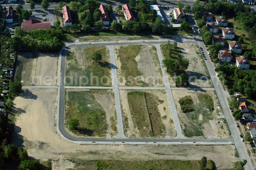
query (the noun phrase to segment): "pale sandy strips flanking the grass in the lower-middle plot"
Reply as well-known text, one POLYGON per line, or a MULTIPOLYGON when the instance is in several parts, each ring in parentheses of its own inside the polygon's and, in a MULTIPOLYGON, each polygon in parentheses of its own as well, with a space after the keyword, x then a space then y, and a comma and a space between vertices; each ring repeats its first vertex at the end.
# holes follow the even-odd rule
MULTIPOLYGON (((125 135, 128 138, 141 138, 140 134, 138 134, 138 129, 134 125, 132 120, 132 116, 131 116, 131 112, 130 112, 130 108, 127 100, 127 93, 129 91, 130 90, 119 90, 122 114, 124 117, 127 118, 127 122, 128 122, 128 127, 124 125, 125 135)), ((169 101, 168 101, 166 92, 164 90, 140 90, 140 91, 153 93, 156 96, 158 96, 159 100, 164 101, 163 103, 160 103, 158 105, 158 109, 161 114, 161 117, 167 116, 166 119, 161 118, 166 128, 166 136, 164 138, 176 137, 177 133, 176 133, 175 125, 173 123, 173 115, 170 110, 169 101)))

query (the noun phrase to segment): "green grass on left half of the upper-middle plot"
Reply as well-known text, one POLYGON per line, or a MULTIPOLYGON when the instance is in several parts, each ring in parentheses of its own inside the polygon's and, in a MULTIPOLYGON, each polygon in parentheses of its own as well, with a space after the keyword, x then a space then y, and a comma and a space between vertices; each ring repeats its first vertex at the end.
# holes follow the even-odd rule
MULTIPOLYGON (((137 76, 141 75, 141 72, 138 69, 138 64, 135 60, 135 57, 138 55, 139 51, 142 49, 143 45, 129 45, 129 46, 121 46, 118 51, 118 58, 121 62, 121 70, 125 80, 128 80, 128 76, 132 76, 134 79, 137 76)), ((139 81, 138 83, 142 83, 142 86, 147 86, 143 81, 139 81)), ((137 86, 135 81, 125 82, 126 86, 137 86)))

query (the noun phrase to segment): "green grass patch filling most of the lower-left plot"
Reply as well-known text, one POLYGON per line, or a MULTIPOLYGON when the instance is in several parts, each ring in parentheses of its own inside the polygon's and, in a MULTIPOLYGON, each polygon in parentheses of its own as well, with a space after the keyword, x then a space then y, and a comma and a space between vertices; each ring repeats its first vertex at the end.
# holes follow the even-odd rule
POLYGON ((76 135, 104 137, 108 124, 106 113, 90 91, 66 92, 66 122, 71 118, 79 120, 79 127, 72 130, 76 135))

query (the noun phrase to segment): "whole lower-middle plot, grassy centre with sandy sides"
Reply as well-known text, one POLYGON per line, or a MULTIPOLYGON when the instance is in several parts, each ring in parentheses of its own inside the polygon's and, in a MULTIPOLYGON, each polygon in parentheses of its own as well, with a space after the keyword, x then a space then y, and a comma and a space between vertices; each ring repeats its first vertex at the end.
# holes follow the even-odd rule
POLYGON ((120 90, 119 94, 127 137, 176 136, 165 90, 120 90))

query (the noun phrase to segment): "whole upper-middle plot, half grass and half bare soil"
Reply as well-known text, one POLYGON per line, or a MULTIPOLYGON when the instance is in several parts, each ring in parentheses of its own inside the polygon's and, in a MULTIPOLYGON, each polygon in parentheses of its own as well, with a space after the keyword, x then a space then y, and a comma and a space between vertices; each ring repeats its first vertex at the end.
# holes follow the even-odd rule
POLYGON ((155 46, 124 45, 114 50, 120 86, 164 86, 155 46))

